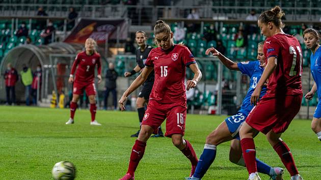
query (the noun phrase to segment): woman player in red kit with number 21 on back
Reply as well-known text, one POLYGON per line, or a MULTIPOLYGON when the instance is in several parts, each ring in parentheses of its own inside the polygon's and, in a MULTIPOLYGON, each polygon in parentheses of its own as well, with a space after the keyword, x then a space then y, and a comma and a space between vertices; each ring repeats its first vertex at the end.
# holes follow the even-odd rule
POLYGON ((253 135, 257 131, 266 135, 282 163, 289 171, 291 180, 302 179, 290 149, 280 138, 301 107, 303 97, 302 51, 298 40, 282 31, 284 13, 276 6, 264 11, 258 18, 261 34, 266 36, 263 45, 266 66, 251 96, 256 105, 239 131, 241 146, 249 179, 260 179, 256 167, 256 151, 253 135), (266 94, 259 100, 262 86, 268 80, 266 94), (259 103, 257 103, 259 100, 259 103))

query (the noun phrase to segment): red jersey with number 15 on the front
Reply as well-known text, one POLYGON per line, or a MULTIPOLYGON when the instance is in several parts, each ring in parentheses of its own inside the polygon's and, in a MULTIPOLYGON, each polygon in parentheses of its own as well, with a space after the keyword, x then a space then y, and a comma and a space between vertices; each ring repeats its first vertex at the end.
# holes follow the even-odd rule
POLYGON ((186 66, 196 63, 190 50, 182 45, 174 45, 168 50, 154 48, 150 51, 145 65, 154 67, 155 81, 149 100, 160 103, 186 101, 186 66))

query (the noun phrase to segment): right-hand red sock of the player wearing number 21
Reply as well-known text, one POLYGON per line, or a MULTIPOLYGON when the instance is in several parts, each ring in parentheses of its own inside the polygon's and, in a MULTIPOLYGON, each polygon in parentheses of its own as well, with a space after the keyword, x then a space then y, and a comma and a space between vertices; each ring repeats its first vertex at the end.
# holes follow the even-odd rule
POLYGON ((284 141, 280 140, 280 142, 278 142, 276 145, 274 145, 273 148, 278 153, 279 157, 281 158, 282 163, 284 164, 286 169, 289 171, 290 175, 293 176, 293 175, 299 174, 299 171, 298 171, 296 164, 293 160, 290 149, 286 145, 286 143, 284 141))

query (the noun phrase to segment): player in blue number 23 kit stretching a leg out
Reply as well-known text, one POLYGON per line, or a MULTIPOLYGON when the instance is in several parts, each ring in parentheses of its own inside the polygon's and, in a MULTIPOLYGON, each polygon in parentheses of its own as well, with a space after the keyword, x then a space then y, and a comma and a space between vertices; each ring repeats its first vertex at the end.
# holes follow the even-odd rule
MULTIPOLYGON (((223 54, 221 54, 215 48, 209 48, 206 50, 206 54, 212 53, 213 56, 217 56, 220 61, 230 70, 240 71, 243 74, 248 75, 251 78, 250 87, 246 97, 243 100, 242 107, 240 110, 235 114, 225 119, 214 131, 212 131, 206 138, 206 143, 204 146, 203 153, 198 161, 196 171, 192 177, 188 179, 198 180, 201 179, 206 171, 208 170, 209 166, 212 164, 216 157, 216 148, 219 144, 230 141, 230 161, 234 164, 244 166, 245 162, 242 157, 242 148, 240 146, 240 138, 238 135, 238 131, 242 124, 245 122, 246 117, 250 113, 253 108, 251 105, 251 95, 254 91, 254 88, 257 85, 257 82, 261 78, 261 75, 264 70, 264 61, 265 56, 263 53, 263 42, 258 44, 257 49, 258 61, 254 62, 241 62, 241 63, 234 63, 223 54)), ((264 86, 261 91, 260 98, 265 94, 266 87, 264 86)), ((256 159, 258 171, 264 174, 268 174, 272 179, 282 179, 283 169, 279 167, 271 167, 259 159, 256 159)))

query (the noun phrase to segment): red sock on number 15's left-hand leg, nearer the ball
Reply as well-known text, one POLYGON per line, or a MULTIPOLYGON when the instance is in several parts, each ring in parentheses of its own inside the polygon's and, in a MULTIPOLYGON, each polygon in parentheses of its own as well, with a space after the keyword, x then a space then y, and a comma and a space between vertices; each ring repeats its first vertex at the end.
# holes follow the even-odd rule
POLYGON ((146 142, 139 141, 138 139, 135 141, 135 144, 132 146, 128 171, 130 175, 134 175, 136 168, 143 158, 145 153, 146 142))

